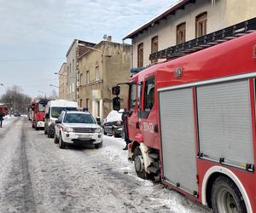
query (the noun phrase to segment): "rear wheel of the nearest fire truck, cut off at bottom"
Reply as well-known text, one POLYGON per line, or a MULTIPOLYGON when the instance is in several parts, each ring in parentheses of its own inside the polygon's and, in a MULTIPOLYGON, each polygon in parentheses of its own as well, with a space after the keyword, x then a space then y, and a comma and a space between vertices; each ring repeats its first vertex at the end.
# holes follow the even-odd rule
POLYGON ((212 210, 218 212, 247 212, 246 205, 236 184, 219 176, 212 184, 212 210))

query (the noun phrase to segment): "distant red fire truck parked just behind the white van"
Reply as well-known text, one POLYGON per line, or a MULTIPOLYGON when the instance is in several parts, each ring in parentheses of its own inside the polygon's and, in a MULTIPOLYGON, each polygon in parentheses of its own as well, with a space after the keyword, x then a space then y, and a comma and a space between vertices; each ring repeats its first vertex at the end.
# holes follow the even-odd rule
POLYGON ((45 107, 47 104, 46 99, 39 99, 32 101, 32 128, 36 130, 44 130, 44 115, 45 107))

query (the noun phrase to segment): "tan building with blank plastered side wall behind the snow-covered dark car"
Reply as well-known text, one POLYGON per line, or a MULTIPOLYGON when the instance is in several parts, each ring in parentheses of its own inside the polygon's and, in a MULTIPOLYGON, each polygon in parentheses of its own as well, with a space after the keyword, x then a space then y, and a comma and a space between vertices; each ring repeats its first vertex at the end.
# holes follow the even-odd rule
MULTIPOLYGON (((96 44, 79 56, 78 103, 89 107, 94 117, 106 118, 112 110, 112 87, 129 82, 131 45, 108 40, 96 44)), ((125 108, 128 86, 121 89, 121 107, 125 108)))

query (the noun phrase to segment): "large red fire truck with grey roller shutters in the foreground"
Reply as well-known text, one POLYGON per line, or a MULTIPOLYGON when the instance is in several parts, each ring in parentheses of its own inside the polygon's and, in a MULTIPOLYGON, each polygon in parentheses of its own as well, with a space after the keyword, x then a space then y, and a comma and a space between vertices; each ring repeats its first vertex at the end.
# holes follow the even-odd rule
POLYGON ((247 20, 161 50, 150 59, 166 62, 126 83, 137 176, 160 176, 214 212, 256 212, 255 30, 247 20))

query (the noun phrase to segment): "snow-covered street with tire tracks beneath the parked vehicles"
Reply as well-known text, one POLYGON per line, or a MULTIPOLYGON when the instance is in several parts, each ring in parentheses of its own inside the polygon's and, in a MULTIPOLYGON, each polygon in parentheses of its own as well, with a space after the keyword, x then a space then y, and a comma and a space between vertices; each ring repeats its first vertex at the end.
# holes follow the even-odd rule
POLYGON ((27 118, 0 129, 0 212, 208 212, 183 195, 139 179, 125 142, 59 149, 27 118))

